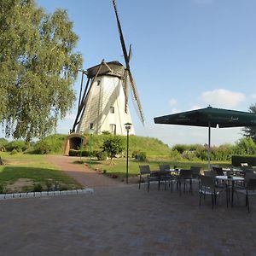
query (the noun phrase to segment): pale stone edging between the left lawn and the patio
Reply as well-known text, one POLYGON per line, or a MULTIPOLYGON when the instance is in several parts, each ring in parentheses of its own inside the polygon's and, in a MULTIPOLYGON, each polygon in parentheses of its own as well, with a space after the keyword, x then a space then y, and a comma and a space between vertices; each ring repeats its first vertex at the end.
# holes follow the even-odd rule
POLYGON ((31 197, 45 197, 55 195, 82 195, 92 194, 94 189, 74 189, 74 190, 61 190, 61 191, 42 191, 42 192, 26 192, 26 193, 8 193, 0 194, 0 200, 17 199, 17 198, 31 198, 31 197))

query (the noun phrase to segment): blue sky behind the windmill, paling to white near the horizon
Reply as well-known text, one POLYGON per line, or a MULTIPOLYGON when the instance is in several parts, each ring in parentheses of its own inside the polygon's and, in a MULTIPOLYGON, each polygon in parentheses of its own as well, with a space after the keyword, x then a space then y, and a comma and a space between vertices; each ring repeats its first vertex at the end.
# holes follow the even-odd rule
MULTIPOLYGON (((79 36, 84 69, 124 63, 112 0, 38 0, 48 13, 67 9, 79 36)), ((208 105, 247 111, 256 102, 256 1, 117 0, 125 43, 132 44, 131 73, 145 126, 130 104, 139 136, 176 143, 207 143, 207 128, 155 125, 154 117, 208 105)), ((80 77, 74 88, 79 92, 80 77)), ((57 132, 73 126, 77 106, 57 132)), ((212 129, 212 144, 234 143, 241 128, 212 129)))

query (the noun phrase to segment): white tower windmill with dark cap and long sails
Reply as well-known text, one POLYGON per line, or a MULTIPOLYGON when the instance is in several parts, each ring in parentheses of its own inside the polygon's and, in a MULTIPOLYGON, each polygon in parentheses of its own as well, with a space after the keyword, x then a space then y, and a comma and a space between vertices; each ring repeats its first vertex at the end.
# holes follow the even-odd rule
MULTIPOLYGON (((90 130, 93 129, 96 134, 109 131, 112 134, 125 135, 125 123, 131 123, 131 114, 128 108, 130 88, 138 117, 144 124, 143 109, 130 70, 131 45, 129 53, 127 53, 115 0, 113 0, 113 9, 125 58, 125 67, 119 61, 106 62, 102 60, 101 64, 81 71, 79 108, 72 132, 90 133, 90 130), (87 82, 83 90, 85 75, 87 82)), ((131 134, 134 134, 133 128, 131 134)))

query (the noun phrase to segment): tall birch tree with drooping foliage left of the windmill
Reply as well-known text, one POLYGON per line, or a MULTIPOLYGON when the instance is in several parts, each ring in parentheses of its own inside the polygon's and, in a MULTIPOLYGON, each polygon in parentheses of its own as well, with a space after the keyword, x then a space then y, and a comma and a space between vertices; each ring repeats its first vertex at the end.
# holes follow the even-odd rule
POLYGON ((0 119, 7 137, 44 137, 65 117, 82 57, 67 11, 34 0, 0 3, 0 119))

